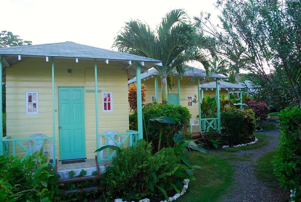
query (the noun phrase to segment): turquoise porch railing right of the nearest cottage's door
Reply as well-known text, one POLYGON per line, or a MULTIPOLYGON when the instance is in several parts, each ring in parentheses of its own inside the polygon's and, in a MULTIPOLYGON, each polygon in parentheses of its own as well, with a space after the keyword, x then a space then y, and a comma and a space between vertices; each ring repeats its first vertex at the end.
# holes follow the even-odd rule
MULTIPOLYGON (((99 140, 102 140, 101 137, 105 137, 106 143, 103 145, 108 145, 109 138, 110 138, 113 140, 113 142, 115 143, 116 146, 123 147, 123 145, 126 143, 126 140, 128 140, 128 145, 129 145, 129 147, 131 147, 131 146, 135 145, 136 141, 139 139, 139 132, 133 131, 133 130, 126 130, 126 131, 127 132, 125 132, 125 133, 98 134, 97 141, 99 142, 99 140), (114 138, 113 138, 113 136, 114 136, 114 138), (121 139, 120 143, 118 141, 116 141, 116 138, 118 136, 120 136, 120 139, 121 139)), ((103 151, 101 151, 101 152, 103 152, 103 151)), ((98 160, 99 161, 112 160, 115 154, 116 154, 116 151, 107 148, 105 150, 105 155, 103 156, 103 158, 102 159, 98 158, 98 160)), ((99 156, 99 153, 98 153, 98 156, 99 156)))

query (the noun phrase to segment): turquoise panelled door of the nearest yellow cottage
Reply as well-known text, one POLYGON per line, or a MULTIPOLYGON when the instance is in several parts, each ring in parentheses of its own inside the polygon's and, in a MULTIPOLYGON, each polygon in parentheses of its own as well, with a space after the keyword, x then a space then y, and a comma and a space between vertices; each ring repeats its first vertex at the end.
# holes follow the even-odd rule
POLYGON ((59 160, 86 157, 83 87, 58 88, 59 160))

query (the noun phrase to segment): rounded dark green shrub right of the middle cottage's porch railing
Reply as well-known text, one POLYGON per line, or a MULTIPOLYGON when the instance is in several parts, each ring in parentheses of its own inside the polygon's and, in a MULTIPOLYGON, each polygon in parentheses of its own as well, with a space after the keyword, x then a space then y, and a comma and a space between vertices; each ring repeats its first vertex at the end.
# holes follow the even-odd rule
POLYGON ((228 144, 242 144, 254 140, 256 118, 252 109, 236 109, 234 107, 221 110, 222 138, 228 144))

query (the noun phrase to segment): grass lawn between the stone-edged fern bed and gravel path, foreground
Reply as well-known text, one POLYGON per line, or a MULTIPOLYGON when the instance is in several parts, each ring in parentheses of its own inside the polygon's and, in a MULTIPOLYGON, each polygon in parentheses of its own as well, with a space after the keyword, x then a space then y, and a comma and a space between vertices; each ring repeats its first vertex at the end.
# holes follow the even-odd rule
POLYGON ((217 155, 200 152, 191 152, 190 161, 202 169, 194 169, 196 180, 189 183, 187 193, 176 201, 222 201, 222 195, 231 191, 233 184, 235 170, 230 163, 217 155))

